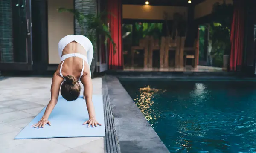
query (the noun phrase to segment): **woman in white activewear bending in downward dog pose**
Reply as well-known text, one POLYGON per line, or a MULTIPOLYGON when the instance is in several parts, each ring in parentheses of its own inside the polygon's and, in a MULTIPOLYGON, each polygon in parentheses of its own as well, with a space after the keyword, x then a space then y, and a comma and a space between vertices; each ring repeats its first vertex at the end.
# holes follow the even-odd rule
POLYGON ((79 79, 84 86, 84 99, 89 114, 89 120, 83 125, 88 124, 88 127, 101 125, 96 121, 92 102, 93 85, 90 64, 93 59, 93 45, 91 41, 83 35, 67 35, 59 41, 58 53, 61 62, 52 78, 51 100, 41 120, 31 127, 41 128, 45 124, 51 125, 48 118, 57 104, 59 91, 61 90, 62 97, 67 101, 76 100, 81 91, 79 79))

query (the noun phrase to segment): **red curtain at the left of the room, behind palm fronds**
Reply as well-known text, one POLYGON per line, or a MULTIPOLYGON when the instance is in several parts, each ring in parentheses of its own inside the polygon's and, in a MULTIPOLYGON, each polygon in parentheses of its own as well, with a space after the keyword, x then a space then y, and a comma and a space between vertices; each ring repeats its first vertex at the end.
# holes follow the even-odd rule
POLYGON ((122 2, 121 0, 108 0, 107 11, 109 13, 109 29, 116 43, 116 53, 110 41, 108 41, 108 66, 109 69, 123 68, 122 55, 122 2))

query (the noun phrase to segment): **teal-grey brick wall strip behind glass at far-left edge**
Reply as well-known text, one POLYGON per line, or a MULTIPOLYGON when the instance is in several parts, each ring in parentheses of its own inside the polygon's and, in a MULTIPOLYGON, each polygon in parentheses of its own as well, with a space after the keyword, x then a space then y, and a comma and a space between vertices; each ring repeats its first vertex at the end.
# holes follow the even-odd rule
POLYGON ((10 0, 0 0, 0 62, 13 61, 12 6, 10 0))

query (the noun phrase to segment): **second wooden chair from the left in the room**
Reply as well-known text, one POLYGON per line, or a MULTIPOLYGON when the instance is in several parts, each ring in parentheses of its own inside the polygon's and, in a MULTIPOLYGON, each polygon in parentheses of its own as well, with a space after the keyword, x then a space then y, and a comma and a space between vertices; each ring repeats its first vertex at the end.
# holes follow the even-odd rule
POLYGON ((161 45, 159 46, 159 40, 154 40, 153 36, 149 38, 149 49, 148 49, 148 67, 153 66, 153 52, 154 50, 160 50, 160 67, 163 67, 164 59, 164 43, 165 37, 161 38, 161 45))

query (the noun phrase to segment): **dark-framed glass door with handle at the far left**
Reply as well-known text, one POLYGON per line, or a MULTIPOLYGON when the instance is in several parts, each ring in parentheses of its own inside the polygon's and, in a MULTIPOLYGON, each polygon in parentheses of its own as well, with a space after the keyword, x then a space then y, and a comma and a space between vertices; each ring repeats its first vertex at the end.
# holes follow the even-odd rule
POLYGON ((32 70, 31 0, 1 0, 0 12, 0 70, 32 70))

